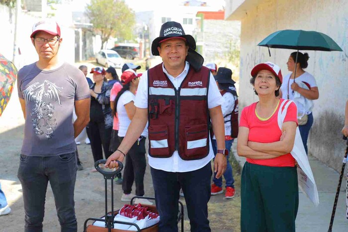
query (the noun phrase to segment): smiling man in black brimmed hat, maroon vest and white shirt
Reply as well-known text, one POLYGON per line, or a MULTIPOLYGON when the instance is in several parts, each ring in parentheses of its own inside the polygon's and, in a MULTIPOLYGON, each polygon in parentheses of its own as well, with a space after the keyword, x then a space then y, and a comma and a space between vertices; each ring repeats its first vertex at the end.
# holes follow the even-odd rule
POLYGON ((152 54, 163 63, 143 74, 135 99, 135 116, 121 145, 108 158, 116 167, 149 121, 149 165, 160 214, 159 232, 177 232, 179 190, 187 204, 191 232, 210 232, 210 161, 214 158, 209 128, 217 140, 214 169, 219 178, 226 169, 222 97, 196 42, 180 23, 166 22, 152 43, 152 54), (210 123, 210 120, 212 123, 210 123))

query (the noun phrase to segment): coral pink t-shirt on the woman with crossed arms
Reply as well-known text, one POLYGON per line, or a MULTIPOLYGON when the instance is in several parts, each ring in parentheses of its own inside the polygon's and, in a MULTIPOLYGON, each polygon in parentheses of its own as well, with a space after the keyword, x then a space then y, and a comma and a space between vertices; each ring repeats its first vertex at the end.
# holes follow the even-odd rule
MULTIPOLYGON (((278 126, 277 116, 281 103, 284 99, 280 99, 278 108, 275 113, 265 121, 260 120, 255 114, 255 108, 257 103, 245 107, 242 111, 241 120, 239 126, 249 128, 248 141, 270 143, 280 140, 281 130, 278 126)), ((282 108, 282 110, 284 107, 282 108)), ((297 108, 294 103, 291 103, 287 109, 287 113, 284 119, 286 121, 295 121, 297 124, 297 108)), ((273 159, 250 159, 247 158, 247 162, 270 166, 270 167, 294 167, 295 159, 290 153, 278 156, 273 159)))

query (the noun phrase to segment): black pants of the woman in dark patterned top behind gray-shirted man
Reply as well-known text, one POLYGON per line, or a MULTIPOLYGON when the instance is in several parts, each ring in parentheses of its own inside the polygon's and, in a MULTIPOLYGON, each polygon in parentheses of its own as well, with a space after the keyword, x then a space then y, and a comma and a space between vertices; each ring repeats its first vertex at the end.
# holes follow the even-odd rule
POLYGON ((87 134, 89 134, 94 162, 103 159, 103 150, 105 159, 107 159, 112 154, 109 151, 112 127, 105 128, 104 121, 89 121, 86 129, 87 134))

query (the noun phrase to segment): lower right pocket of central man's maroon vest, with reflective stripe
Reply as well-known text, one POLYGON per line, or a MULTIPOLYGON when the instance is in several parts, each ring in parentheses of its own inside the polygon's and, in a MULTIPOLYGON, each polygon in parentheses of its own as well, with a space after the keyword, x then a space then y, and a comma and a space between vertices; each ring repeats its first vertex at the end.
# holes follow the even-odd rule
POLYGON ((208 126, 206 124, 185 127, 186 156, 206 156, 208 153, 208 126))

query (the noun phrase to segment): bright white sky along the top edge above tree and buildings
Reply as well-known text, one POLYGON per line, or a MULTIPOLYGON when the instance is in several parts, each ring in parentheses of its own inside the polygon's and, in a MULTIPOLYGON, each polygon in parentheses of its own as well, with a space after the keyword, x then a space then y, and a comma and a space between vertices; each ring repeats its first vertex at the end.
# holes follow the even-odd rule
MULTIPOLYGON (((170 10, 170 5, 180 4, 184 0, 125 0, 130 8, 135 12, 148 11, 156 8, 162 8, 163 10, 170 10)), ((225 0, 201 0, 207 2, 209 6, 221 7, 225 5, 225 0)), ((76 11, 83 11, 89 0, 74 0, 72 2, 72 8, 76 11)))

